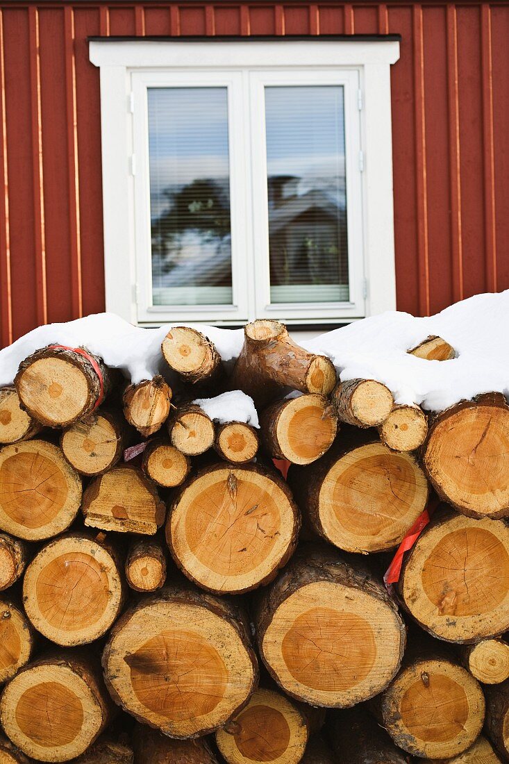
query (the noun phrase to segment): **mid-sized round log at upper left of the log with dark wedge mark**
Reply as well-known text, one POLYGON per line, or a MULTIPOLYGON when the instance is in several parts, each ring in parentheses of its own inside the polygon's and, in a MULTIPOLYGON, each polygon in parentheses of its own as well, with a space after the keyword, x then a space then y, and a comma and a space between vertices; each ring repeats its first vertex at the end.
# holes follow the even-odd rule
POLYGON ((124 590, 118 556, 98 536, 66 533, 34 557, 24 575, 24 609, 61 646, 99 639, 120 615, 124 590))

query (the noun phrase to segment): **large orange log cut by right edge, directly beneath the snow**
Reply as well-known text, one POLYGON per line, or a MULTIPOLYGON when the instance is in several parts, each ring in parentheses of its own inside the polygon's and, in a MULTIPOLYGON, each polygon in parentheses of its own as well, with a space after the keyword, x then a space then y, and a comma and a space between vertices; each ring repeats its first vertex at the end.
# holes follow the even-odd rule
POLYGON ((436 493, 470 517, 509 515, 509 406, 500 393, 463 401, 430 427, 424 468, 436 493))

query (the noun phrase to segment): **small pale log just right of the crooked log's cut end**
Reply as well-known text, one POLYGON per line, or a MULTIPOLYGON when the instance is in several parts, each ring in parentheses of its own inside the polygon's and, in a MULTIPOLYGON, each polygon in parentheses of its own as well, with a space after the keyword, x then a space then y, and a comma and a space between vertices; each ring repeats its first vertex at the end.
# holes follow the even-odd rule
POLYGON ((391 413, 391 390, 376 380, 346 380, 332 390, 339 419, 355 427, 376 427, 391 413))

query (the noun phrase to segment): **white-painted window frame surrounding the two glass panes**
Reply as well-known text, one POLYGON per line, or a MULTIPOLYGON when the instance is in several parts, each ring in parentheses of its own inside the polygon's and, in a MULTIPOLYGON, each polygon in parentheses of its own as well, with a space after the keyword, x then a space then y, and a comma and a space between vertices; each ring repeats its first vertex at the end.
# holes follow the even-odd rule
POLYGON ((232 325, 255 317, 332 323, 395 309, 390 69, 399 58, 397 41, 110 38, 91 40, 89 57, 100 68, 107 310, 141 325, 232 325), (228 87, 229 105, 235 104, 229 108, 234 304, 168 310, 151 306, 146 89, 199 83, 228 87), (274 306, 268 294, 263 89, 326 83, 345 87, 350 301, 274 306), (352 109, 358 121, 349 118, 352 109), (257 141, 256 156, 264 158, 254 167, 246 160, 251 140, 257 141), (255 290, 248 288, 253 283, 255 290))

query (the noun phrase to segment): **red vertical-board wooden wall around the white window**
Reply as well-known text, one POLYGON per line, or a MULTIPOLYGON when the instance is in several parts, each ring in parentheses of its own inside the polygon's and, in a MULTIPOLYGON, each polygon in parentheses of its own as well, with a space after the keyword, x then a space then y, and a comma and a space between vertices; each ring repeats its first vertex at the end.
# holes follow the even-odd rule
POLYGON ((0 0, 0 340, 104 308, 90 35, 402 35, 398 308, 509 287, 509 3, 0 0))

